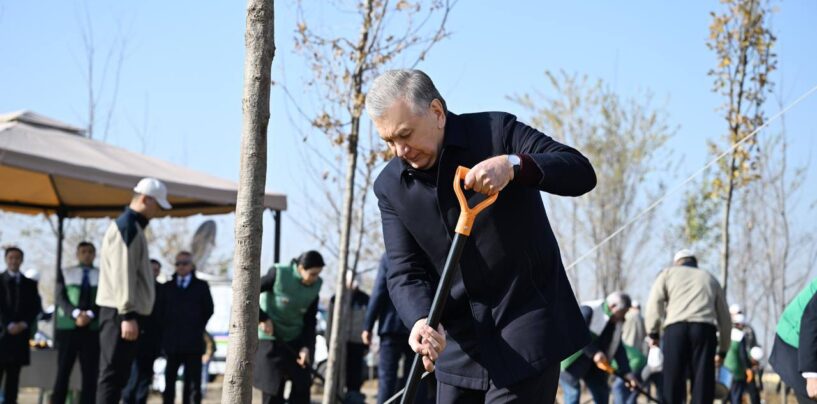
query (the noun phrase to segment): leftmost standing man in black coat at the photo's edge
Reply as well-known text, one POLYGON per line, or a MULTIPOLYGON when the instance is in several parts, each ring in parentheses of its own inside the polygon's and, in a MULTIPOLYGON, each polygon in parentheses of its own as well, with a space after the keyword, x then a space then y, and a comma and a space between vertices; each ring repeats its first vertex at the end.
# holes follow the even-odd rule
POLYGON ((20 369, 29 364, 28 340, 42 310, 37 282, 20 273, 23 250, 6 248, 6 271, 0 274, 0 380, 5 404, 17 403, 20 369))

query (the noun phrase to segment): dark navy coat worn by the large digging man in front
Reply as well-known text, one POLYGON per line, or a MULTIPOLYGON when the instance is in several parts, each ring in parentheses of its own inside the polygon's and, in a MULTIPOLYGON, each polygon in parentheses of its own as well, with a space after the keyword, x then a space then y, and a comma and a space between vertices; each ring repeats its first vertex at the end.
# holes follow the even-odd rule
MULTIPOLYGON (((448 114, 438 185, 400 159, 378 176, 389 294, 405 324, 428 315, 460 213, 457 166, 510 153, 530 156, 543 176, 535 185, 510 183, 474 223, 442 316, 448 346, 436 376, 446 384, 485 390, 490 379, 504 387, 589 341, 540 191, 579 196, 595 187, 595 173, 581 153, 507 113, 448 114)), ((473 206, 481 196, 470 199, 473 206)))

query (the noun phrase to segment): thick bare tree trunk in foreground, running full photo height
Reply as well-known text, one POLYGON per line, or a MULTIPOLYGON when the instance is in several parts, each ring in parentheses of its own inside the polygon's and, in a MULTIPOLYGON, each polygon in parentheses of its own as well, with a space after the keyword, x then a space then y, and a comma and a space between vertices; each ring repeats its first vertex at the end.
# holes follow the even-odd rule
POLYGON ((235 217, 235 273, 227 370, 221 402, 252 403, 252 358, 258 345, 261 233, 267 173, 270 71, 275 55, 274 0, 247 1, 244 114, 235 217))

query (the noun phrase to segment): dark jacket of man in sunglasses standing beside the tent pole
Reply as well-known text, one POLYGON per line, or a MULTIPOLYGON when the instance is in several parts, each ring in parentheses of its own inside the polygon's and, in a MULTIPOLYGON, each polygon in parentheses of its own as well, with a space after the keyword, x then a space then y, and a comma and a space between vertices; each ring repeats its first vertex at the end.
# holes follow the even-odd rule
POLYGON ((213 315, 213 297, 207 282, 191 273, 182 289, 176 275, 162 285, 162 349, 167 354, 203 354, 204 329, 213 315))

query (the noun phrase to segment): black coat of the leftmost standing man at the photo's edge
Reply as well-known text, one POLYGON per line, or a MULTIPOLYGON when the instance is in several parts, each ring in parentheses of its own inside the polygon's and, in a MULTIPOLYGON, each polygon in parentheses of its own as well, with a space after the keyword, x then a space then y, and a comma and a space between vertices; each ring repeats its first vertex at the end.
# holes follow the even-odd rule
POLYGON ((40 311, 42 311, 42 304, 36 281, 20 274, 18 285, 8 271, 0 274, 1 364, 29 364, 31 352, 28 340, 34 332, 40 311), (11 335, 8 332, 8 325, 18 321, 27 323, 28 328, 17 335, 11 335))

